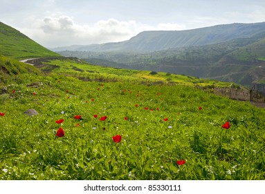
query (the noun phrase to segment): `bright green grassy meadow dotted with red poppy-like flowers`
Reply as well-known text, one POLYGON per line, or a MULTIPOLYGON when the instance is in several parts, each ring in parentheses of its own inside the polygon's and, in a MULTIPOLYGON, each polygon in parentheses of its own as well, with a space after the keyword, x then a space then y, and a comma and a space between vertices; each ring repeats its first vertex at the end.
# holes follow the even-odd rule
POLYGON ((265 179, 264 109, 197 89, 231 83, 50 64, 0 82, 0 179, 265 179))

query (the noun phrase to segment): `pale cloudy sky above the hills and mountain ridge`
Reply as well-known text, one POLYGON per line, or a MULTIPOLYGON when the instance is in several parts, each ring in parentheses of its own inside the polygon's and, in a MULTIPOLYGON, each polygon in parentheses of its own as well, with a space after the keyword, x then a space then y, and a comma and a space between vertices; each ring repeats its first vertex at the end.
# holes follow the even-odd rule
POLYGON ((265 21, 264 0, 1 0, 0 21, 46 48, 121 42, 145 30, 265 21))

